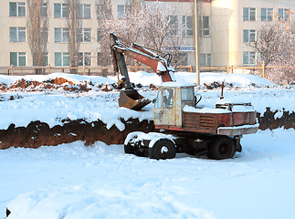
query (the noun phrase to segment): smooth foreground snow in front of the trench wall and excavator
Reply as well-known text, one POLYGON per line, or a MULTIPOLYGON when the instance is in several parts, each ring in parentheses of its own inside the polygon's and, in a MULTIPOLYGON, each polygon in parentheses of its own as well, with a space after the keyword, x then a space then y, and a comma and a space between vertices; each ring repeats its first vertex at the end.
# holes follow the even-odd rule
POLYGON ((100 141, 0 151, 0 216, 8 206, 12 219, 289 219, 295 214, 294 134, 258 130, 224 161, 186 154, 156 161, 100 141))

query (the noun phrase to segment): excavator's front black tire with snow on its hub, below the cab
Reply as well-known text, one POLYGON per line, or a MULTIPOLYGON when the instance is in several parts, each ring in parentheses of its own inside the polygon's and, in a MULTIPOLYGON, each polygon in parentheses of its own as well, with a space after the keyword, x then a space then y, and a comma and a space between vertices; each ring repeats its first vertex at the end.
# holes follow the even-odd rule
POLYGON ((175 144, 168 139, 160 139, 153 144, 153 148, 149 148, 149 156, 151 159, 172 159, 175 155, 175 144))

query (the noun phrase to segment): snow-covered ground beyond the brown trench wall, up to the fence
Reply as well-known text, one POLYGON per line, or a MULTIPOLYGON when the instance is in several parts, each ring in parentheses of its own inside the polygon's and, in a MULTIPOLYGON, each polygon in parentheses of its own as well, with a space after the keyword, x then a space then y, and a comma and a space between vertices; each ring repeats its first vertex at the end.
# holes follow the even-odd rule
MULTIPOLYGON (((135 84, 142 83, 144 86, 161 83, 160 78, 155 74, 145 72, 130 73, 131 81, 135 84)), ((192 73, 176 73, 176 80, 179 82, 194 82, 195 74, 192 73)), ((145 107, 144 112, 138 113, 133 110, 118 109, 117 99, 119 92, 112 90, 110 92, 101 91, 96 85, 113 83, 116 78, 102 78, 94 76, 79 76, 69 74, 51 74, 48 76, 1 76, 0 83, 10 85, 17 80, 25 78, 26 80, 37 80, 39 82, 53 78, 65 78, 75 84, 88 82, 91 90, 89 92, 68 92, 62 89, 26 91, 21 89, 9 89, 1 92, 0 90, 0 130, 7 129, 11 123, 16 124, 16 127, 25 126, 32 120, 40 120, 47 122, 50 127, 61 124, 61 120, 70 119, 78 120, 85 119, 88 121, 102 120, 111 128, 116 125, 120 130, 124 129, 120 117, 124 119, 139 118, 153 119, 152 103, 145 107), (14 100, 9 100, 10 97, 15 97, 14 100)), ((217 73, 201 74, 201 84, 210 84, 214 81, 226 81, 231 83, 233 87, 226 87, 224 96, 225 99, 233 101, 252 102, 255 110, 263 113, 266 107, 270 110, 279 110, 281 115, 282 110, 295 110, 295 89, 285 89, 273 85, 266 79, 258 78, 253 75, 227 75, 217 73), (252 84, 256 86, 253 87, 252 84), (257 88, 257 86, 261 88, 257 88), (270 89, 268 87, 271 87, 270 89)), ((36 89, 34 87, 34 89, 36 89)), ((216 100, 220 96, 221 89, 205 89, 205 86, 200 86, 196 91, 203 97, 199 103, 199 107, 213 108, 216 100)), ((140 94, 148 99, 154 99, 156 91, 144 87, 140 89, 140 94)))

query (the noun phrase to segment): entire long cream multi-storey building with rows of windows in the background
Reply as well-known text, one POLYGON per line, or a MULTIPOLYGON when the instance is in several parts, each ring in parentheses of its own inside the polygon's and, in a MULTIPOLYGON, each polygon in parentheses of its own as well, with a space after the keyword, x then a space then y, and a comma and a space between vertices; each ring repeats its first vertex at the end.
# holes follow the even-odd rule
MULTIPOLYGON (((47 64, 68 66, 68 29, 64 0, 50 0, 43 5, 48 16, 47 64)), ((100 66, 101 45, 97 0, 80 0, 82 35, 79 49, 80 66, 100 66)), ((112 11, 117 19, 128 16, 130 1, 114 0, 112 11)), ((195 66, 195 10, 190 0, 146 0, 144 5, 161 2, 163 11, 174 7, 172 25, 182 26, 184 40, 178 48, 184 57, 182 65, 195 66)), ((33 59, 27 43, 26 0, 0 2, 0 66, 32 66, 33 59)), ((295 12, 294 0, 202 0, 198 3, 200 66, 248 66, 256 63, 257 54, 248 43, 255 41, 260 26, 271 22, 273 13, 288 19, 288 10, 295 12)), ((292 15, 294 18, 294 15, 292 15)), ((139 42, 140 43, 140 42, 139 42)), ((169 52, 172 47, 165 48, 169 52)))

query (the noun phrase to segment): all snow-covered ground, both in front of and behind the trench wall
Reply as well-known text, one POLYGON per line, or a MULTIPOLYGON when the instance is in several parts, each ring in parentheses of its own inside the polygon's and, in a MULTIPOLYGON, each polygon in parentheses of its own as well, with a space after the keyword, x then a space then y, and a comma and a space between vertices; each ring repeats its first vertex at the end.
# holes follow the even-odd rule
MULTIPOLYGON (((160 83, 155 74, 131 73, 131 80, 148 86, 160 83)), ((26 76, 44 81, 62 77, 75 83, 112 83, 115 78, 52 74, 26 76)), ((0 76, 13 84, 23 77, 0 76)), ((177 81, 194 82, 195 74, 177 73, 177 81)), ((282 88, 249 75, 206 73, 201 83, 226 81, 226 99, 252 102, 263 113, 295 110, 294 88, 282 88), (255 84, 256 86, 252 86, 255 84), (258 88, 260 87, 260 88, 258 88)), ((214 107, 220 89, 197 90, 200 107, 214 107)), ((149 99, 156 91, 140 93, 149 99)), ((70 93, 0 92, 0 129, 41 120, 50 126, 62 119, 103 120, 123 130, 120 117, 152 119, 152 105, 143 112, 118 109, 118 91, 70 93), (15 97, 9 100, 10 97, 15 97)), ((278 112, 277 117, 281 116, 278 112)), ((122 145, 103 142, 85 147, 82 141, 38 149, 0 151, 0 218, 293 218, 295 214, 295 130, 259 130, 244 136, 243 151, 234 159, 212 161, 178 154, 154 161, 124 154, 122 145)))

